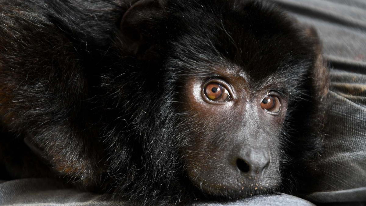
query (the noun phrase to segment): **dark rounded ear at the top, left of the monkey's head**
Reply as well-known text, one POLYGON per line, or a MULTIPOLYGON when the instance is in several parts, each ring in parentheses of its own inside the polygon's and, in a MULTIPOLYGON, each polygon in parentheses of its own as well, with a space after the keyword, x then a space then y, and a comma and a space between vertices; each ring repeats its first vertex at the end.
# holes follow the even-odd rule
MULTIPOLYGON (((154 19, 163 12, 162 0, 138 0, 123 15, 120 30, 122 43, 130 54, 137 55, 153 36, 154 19)), ((146 48, 145 48, 146 49, 146 48)))

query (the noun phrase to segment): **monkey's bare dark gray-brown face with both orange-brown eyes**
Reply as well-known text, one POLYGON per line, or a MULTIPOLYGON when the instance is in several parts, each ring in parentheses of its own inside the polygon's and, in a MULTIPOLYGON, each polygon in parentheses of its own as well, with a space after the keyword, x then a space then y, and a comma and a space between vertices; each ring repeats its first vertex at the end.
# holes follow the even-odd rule
POLYGON ((251 91, 244 73, 233 68, 221 74, 191 78, 185 86, 185 109, 196 125, 185 149, 188 176, 213 195, 271 192, 281 181, 287 97, 270 89, 251 91))

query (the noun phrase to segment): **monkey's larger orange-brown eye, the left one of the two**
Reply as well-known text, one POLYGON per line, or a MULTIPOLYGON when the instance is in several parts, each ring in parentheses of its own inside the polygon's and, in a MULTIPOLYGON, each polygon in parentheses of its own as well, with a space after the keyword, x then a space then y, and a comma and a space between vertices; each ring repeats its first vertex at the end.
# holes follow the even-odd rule
POLYGON ((205 97, 214 102, 225 102, 229 99, 229 92, 218 82, 209 82, 203 88, 205 97))

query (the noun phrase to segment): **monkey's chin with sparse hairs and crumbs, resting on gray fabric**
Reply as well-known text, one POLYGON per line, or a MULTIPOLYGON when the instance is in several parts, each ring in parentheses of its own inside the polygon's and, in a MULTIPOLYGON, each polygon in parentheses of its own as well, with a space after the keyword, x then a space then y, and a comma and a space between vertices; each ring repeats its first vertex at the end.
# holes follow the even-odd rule
POLYGON ((193 184, 203 192, 205 196, 214 197, 215 199, 241 199, 254 195, 275 194, 279 189, 279 184, 262 185, 248 184, 236 187, 230 187, 223 184, 208 184, 203 181, 194 180, 193 184))

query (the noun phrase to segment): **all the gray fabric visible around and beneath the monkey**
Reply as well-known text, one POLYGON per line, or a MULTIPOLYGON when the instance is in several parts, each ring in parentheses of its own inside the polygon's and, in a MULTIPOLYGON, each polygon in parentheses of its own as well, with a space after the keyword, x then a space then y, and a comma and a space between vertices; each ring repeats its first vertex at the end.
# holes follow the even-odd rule
MULTIPOLYGON (((331 68, 329 136, 319 162, 322 173, 313 202, 366 201, 366 1, 271 0, 300 22, 313 25, 331 68)), ((48 179, 0 184, 0 204, 118 205, 98 196, 64 188, 48 179), (42 203, 42 204, 41 204, 42 203)), ((123 204, 123 203, 120 203, 123 204)), ((202 203, 201 205, 220 205, 202 203)), ((290 195, 257 196, 222 205, 306 205, 290 195)))

